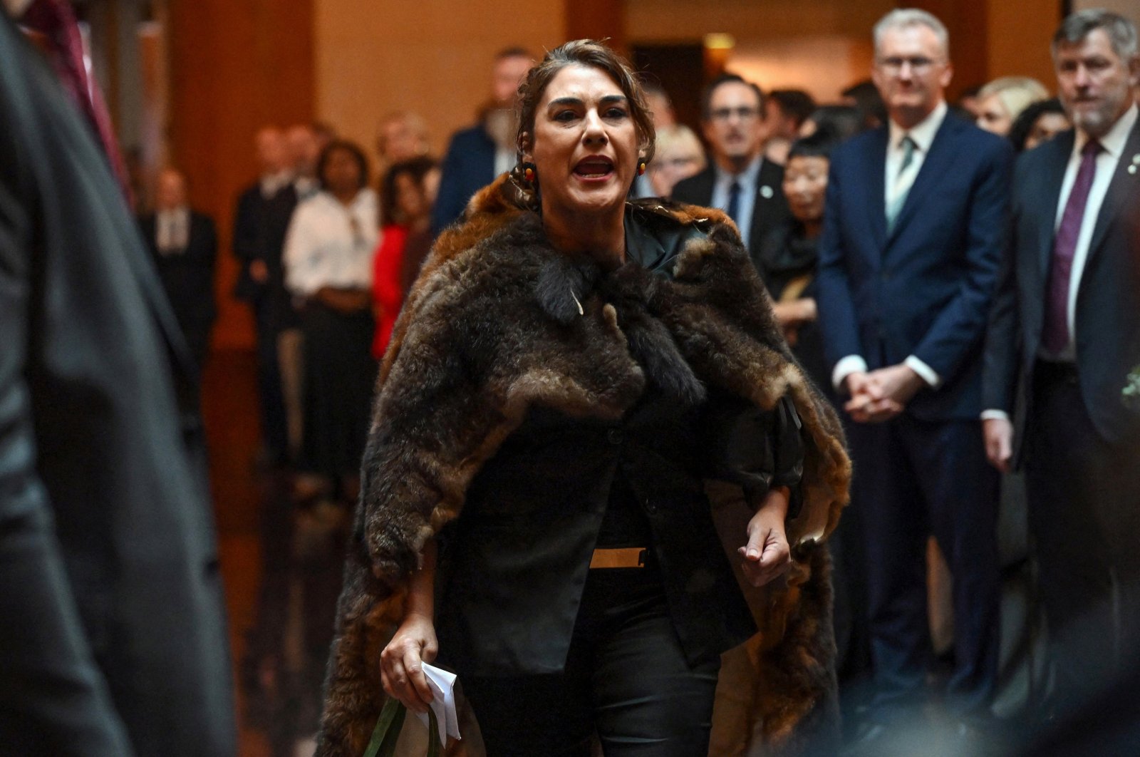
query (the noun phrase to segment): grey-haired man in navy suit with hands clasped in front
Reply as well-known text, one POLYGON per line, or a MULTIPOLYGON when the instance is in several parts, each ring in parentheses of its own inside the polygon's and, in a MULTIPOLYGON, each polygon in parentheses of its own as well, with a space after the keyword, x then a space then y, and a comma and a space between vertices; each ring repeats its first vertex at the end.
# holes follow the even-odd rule
POLYGON ((947 112, 952 68, 937 18, 891 11, 876 25, 874 46, 889 120, 832 156, 819 272, 824 349, 854 422, 873 718, 881 732, 922 699, 933 534, 954 577, 946 701, 976 726, 993 693, 999 633, 997 475, 980 437, 982 349, 1012 154, 947 112))

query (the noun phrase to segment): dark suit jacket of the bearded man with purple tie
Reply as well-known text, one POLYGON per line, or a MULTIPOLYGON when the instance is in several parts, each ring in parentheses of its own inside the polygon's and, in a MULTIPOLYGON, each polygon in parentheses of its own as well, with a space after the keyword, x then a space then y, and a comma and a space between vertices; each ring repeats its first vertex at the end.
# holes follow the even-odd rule
MULTIPOLYGON (((1075 135, 1069 131, 1021 155, 1013 176, 1009 243, 986 340, 985 407, 1013 415, 1018 384, 1032 385, 1041 349, 1045 287, 1057 206, 1075 135)), ((1076 365, 1081 394, 1097 431, 1110 442, 1140 439, 1140 412, 1121 401, 1127 373, 1140 365, 1140 124, 1129 135, 1093 227, 1076 300, 1076 365)), ((1026 392, 1027 401, 1032 392, 1026 392)), ((1033 412, 1027 406, 1027 413, 1033 412)), ((1017 439, 1026 413, 1018 413, 1017 439)))

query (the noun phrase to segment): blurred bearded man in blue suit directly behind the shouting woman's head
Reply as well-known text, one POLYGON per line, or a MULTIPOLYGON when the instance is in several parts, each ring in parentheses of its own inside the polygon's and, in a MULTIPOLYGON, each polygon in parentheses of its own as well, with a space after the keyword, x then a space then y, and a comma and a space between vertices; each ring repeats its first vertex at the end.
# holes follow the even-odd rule
POLYGON ((522 48, 507 48, 495 56, 491 101, 479 123, 455 132, 447 147, 439 179, 439 194, 431 212, 431 231, 440 231, 463 215, 471 196, 510 171, 516 162, 514 107, 519 84, 534 65, 522 48))

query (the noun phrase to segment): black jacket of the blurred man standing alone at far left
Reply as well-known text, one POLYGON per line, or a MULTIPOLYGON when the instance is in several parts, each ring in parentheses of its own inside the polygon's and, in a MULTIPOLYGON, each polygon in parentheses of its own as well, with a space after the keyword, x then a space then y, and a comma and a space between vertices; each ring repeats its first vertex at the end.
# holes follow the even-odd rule
POLYGON ((139 219, 142 239, 158 269, 174 316, 184 332, 209 332, 218 317, 214 299, 214 264, 218 259, 218 233, 209 215, 190 212, 189 238, 181 251, 158 252, 156 215, 139 219))

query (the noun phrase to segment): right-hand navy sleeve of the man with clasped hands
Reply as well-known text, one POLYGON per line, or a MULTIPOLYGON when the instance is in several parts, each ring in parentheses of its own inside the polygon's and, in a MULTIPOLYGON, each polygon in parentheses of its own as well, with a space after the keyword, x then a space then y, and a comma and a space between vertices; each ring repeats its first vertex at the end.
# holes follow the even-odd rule
POLYGON ((939 376, 954 375, 985 336, 1004 247, 1013 150, 1004 139, 987 149, 970 200, 966 275, 954 298, 930 324, 913 355, 939 376))

